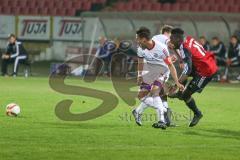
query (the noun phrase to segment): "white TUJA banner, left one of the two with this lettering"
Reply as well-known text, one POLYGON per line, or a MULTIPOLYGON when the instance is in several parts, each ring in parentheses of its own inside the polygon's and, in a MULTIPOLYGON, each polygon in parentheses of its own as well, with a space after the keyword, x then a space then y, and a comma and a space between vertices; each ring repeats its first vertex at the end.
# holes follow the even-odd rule
POLYGON ((18 38, 26 40, 49 40, 50 17, 20 16, 18 38))

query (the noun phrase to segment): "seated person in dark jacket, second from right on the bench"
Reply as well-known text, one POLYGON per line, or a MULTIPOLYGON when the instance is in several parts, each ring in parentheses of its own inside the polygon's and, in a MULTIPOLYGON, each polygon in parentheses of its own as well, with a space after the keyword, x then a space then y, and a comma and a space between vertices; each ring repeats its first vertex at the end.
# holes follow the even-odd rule
POLYGON ((217 65, 225 67, 225 72, 223 74, 219 72, 219 74, 217 75, 218 81, 220 81, 221 78, 223 80, 225 80, 226 77, 224 77, 224 76, 226 75, 226 72, 228 70, 227 63, 226 63, 226 61, 227 61, 226 48, 225 48, 225 45, 223 44, 223 42, 221 42, 218 37, 212 38, 210 51, 212 51, 214 53, 216 60, 217 60, 217 65), (223 77, 221 77, 221 76, 223 76, 223 77))

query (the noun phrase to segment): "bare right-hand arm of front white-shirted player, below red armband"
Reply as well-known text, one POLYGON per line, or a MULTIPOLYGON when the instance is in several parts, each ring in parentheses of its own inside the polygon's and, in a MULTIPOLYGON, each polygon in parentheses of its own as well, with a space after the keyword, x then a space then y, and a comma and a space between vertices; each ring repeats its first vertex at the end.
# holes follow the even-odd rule
POLYGON ((181 91, 184 90, 184 86, 181 83, 179 83, 179 81, 178 81, 177 71, 176 71, 175 66, 172 63, 171 58, 170 57, 165 58, 164 62, 168 65, 168 68, 170 70, 171 76, 172 76, 174 82, 176 83, 177 87, 181 91))

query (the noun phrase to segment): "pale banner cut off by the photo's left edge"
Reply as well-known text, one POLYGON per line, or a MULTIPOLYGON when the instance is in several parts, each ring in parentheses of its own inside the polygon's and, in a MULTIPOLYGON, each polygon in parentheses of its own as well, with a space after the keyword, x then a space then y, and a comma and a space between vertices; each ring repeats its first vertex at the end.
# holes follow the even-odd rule
POLYGON ((10 33, 15 34, 15 16, 0 16, 0 38, 7 38, 10 33))

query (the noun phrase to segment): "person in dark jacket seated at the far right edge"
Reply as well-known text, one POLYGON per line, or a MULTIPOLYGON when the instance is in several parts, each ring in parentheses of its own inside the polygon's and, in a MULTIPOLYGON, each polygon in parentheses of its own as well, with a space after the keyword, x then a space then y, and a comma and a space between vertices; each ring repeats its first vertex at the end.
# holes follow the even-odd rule
MULTIPOLYGON (((239 66, 239 64, 240 64, 240 43, 239 43, 237 36, 233 35, 230 38, 227 66, 235 67, 235 66, 239 66)), ((228 75, 228 70, 225 73, 226 77, 227 77, 227 75, 228 75)), ((237 80, 240 80, 240 74, 237 77, 237 80)))

